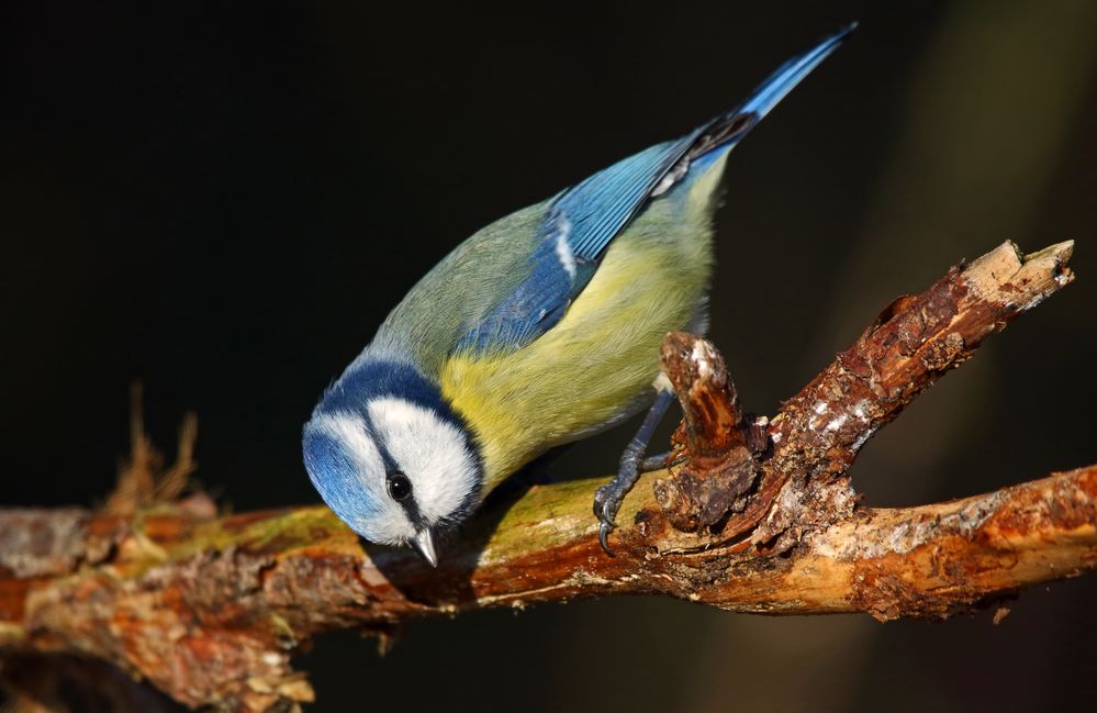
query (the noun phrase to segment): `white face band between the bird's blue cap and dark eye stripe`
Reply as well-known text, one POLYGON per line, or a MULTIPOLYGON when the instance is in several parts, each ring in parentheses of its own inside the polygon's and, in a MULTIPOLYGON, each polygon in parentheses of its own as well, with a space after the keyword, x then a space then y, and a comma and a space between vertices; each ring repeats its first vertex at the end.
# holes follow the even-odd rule
MULTIPOLYGON (((365 490, 365 502, 328 503, 339 514, 360 513, 365 520, 349 522, 371 542, 400 544, 415 535, 403 509, 393 502, 385 488, 384 459, 366 427, 366 421, 355 413, 325 413, 313 417, 311 427, 339 443, 355 466, 358 484, 365 490), (368 514, 367 514, 368 513, 368 514)), ((349 497, 354 490, 347 491, 349 497)))

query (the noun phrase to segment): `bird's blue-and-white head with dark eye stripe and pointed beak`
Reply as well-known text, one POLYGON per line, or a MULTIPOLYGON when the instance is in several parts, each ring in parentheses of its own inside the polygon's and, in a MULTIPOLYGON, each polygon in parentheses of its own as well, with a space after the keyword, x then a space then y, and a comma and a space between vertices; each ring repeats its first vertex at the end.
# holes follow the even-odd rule
POLYGON ((480 458, 471 434, 451 411, 429 400, 389 393, 349 409, 342 396, 325 399, 305 424, 309 477, 356 533, 374 543, 414 546, 437 565, 435 533, 480 502, 480 458))

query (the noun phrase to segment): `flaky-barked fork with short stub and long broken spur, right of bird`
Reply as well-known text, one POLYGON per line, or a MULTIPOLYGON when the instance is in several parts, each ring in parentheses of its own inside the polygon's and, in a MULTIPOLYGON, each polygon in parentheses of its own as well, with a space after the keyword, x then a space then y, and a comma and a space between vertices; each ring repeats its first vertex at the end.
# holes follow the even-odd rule
POLYGON ((703 531, 698 547, 749 534, 739 552, 786 552, 808 526, 848 520, 857 497, 846 474, 865 442, 989 334, 1068 285, 1072 250, 1061 243, 1025 256, 1005 243, 896 299, 772 422, 743 415, 710 343, 668 335, 663 369, 682 403, 686 465, 654 484, 664 516, 703 531))

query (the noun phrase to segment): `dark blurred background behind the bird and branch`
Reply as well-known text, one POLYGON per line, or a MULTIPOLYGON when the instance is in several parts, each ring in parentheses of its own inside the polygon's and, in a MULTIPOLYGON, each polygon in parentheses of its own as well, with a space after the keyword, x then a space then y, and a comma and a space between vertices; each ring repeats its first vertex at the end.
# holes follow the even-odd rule
MULTIPOLYGON (((865 448, 867 502, 1097 459, 1097 4, 5 4, 0 502, 101 501, 146 385, 236 510, 316 502, 302 422, 475 229, 734 104, 858 19, 736 148, 712 335, 773 412, 895 296, 1004 239, 1078 241, 1078 282, 865 448), (458 7, 462 5, 462 7, 458 7)), ((557 468, 611 472, 628 434, 557 468)), ((614 600, 351 634, 314 710, 896 711, 1093 704, 1097 578, 944 624, 614 600)))

